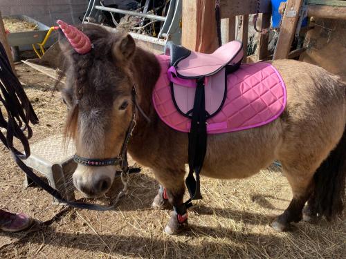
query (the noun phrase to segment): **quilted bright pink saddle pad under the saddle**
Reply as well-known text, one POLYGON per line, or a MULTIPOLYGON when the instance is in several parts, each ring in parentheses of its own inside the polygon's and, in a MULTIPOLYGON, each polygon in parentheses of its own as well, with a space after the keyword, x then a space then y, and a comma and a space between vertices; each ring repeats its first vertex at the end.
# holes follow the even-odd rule
MULTIPOLYGON (((172 99, 170 77, 167 74, 170 68, 170 56, 157 55, 156 58, 161 64, 161 75, 153 91, 156 112, 171 128, 189 132, 190 119, 177 111, 172 99)), ((243 64, 227 76, 227 84, 224 105, 215 116, 207 119, 208 134, 242 131, 262 126, 272 122, 284 111, 286 88, 282 77, 271 64, 264 62, 243 64)), ((186 93, 191 91, 190 87, 185 87, 186 93)), ((213 86, 206 84, 206 87, 213 86)), ((212 99, 212 93, 212 90, 206 89, 206 102, 212 99)), ((194 95, 179 94, 179 98, 182 98, 179 102, 193 103, 194 95)))

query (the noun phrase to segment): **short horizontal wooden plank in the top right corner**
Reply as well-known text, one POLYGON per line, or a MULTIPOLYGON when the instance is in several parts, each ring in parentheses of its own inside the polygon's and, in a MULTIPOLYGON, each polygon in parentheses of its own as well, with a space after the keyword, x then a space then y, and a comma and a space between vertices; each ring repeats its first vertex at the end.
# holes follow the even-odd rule
POLYGON ((346 20, 346 7, 308 6, 307 14, 309 17, 346 20))

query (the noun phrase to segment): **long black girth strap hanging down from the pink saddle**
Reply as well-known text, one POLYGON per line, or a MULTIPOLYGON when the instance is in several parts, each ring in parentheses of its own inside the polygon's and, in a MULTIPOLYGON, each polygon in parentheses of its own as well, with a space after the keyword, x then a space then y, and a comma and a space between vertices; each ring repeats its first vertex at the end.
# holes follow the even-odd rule
POLYGON ((189 174, 185 180, 185 184, 188 187, 191 198, 185 202, 187 207, 191 206, 192 200, 199 200, 202 198, 199 187, 199 173, 201 172, 204 157, 206 156, 207 151, 206 117, 204 77, 202 77, 197 80, 197 88, 194 95, 194 106, 192 110, 191 129, 189 133, 189 174), (196 179, 194 179, 194 173, 196 174, 196 179))

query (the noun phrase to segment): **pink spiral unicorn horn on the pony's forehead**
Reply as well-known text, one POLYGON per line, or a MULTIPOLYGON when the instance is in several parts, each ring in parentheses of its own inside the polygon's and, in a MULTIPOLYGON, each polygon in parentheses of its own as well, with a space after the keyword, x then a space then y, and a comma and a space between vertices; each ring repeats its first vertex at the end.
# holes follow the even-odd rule
POLYGON ((71 46, 75 49, 79 54, 86 54, 92 48, 91 41, 89 37, 87 37, 82 31, 78 30, 74 26, 71 26, 65 23, 62 20, 57 20, 57 24, 59 24, 62 32, 69 40, 71 46))

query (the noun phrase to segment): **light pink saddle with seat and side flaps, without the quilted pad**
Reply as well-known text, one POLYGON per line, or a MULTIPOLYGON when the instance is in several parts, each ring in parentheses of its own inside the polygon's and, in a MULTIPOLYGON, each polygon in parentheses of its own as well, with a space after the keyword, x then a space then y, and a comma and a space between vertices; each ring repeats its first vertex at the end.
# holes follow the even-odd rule
POLYGON ((165 48, 170 57, 167 75, 172 82, 172 97, 176 109, 192 118, 197 84, 203 86, 207 117, 216 115, 227 93, 226 77, 237 70, 243 59, 242 43, 230 41, 212 54, 194 52, 171 41, 165 48))

